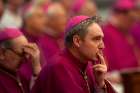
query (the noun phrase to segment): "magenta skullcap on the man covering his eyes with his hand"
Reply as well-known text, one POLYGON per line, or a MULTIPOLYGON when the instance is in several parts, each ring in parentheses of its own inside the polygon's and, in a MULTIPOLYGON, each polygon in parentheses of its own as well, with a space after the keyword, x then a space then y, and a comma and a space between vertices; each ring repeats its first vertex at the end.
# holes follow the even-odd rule
POLYGON ((9 39, 17 38, 22 35, 22 32, 18 28, 4 28, 0 31, 0 43, 9 39))

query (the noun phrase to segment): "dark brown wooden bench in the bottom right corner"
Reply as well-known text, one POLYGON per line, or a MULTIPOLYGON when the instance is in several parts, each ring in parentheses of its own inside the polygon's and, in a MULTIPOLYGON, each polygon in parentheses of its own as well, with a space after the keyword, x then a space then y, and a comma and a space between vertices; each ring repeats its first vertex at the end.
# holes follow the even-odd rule
POLYGON ((121 72, 124 93, 140 93, 140 69, 121 72))

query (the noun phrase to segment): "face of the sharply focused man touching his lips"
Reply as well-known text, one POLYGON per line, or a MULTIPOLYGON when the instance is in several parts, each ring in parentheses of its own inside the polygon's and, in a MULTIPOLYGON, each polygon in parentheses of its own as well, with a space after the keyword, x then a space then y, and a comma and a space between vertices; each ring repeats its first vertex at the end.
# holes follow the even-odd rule
POLYGON ((84 40, 80 41, 79 51, 85 59, 97 60, 97 53, 102 54, 102 50, 104 49, 104 34, 100 26, 96 23, 91 24, 87 30, 88 32, 84 40))

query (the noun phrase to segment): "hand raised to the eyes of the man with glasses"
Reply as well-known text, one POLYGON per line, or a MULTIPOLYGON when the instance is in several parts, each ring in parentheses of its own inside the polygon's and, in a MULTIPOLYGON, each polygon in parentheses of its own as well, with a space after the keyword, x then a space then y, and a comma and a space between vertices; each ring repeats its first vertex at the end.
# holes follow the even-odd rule
POLYGON ((35 43, 29 43, 23 47, 26 58, 31 58, 33 74, 38 75, 41 70, 40 65, 40 51, 35 43))

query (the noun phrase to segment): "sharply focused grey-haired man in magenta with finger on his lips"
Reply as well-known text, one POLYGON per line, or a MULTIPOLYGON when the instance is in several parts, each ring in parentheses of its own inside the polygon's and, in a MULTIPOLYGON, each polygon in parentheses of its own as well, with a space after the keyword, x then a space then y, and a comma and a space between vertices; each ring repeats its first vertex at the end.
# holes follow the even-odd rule
POLYGON ((115 93, 105 80, 103 32, 97 17, 70 19, 65 33, 65 50, 42 69, 31 93, 115 93))

